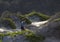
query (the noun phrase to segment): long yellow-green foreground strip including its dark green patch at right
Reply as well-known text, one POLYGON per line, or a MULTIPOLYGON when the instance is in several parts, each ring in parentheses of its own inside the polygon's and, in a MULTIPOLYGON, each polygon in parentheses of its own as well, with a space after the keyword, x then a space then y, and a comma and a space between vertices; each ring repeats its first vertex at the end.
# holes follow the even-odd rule
POLYGON ((37 36, 30 30, 16 31, 16 32, 7 32, 6 34, 0 33, 0 37, 4 37, 4 36, 15 37, 16 35, 25 36, 26 40, 28 40, 29 42, 43 42, 43 40, 45 39, 44 36, 42 36, 42 35, 38 35, 37 36))

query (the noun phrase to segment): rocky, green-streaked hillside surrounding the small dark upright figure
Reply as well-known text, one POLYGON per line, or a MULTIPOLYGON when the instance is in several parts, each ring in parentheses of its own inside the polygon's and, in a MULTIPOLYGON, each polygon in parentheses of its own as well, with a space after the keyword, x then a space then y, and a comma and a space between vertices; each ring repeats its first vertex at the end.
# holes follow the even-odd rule
POLYGON ((51 17, 37 12, 25 15, 5 15, 3 14, 3 17, 0 18, 0 24, 2 24, 0 27, 1 42, 60 42, 60 13, 51 17), (28 19, 30 16, 34 21, 28 19), (36 16, 40 19, 35 19, 36 16), (19 26, 23 18, 27 24, 25 30, 22 31, 19 26))

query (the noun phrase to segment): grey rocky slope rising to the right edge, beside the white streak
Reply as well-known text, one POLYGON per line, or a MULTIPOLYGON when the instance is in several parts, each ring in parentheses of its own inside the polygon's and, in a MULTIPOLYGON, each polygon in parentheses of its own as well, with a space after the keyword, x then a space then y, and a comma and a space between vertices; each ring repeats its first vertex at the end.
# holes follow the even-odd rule
POLYGON ((49 19, 49 21, 39 28, 39 31, 42 35, 46 37, 55 37, 60 39, 60 14, 56 14, 49 19))

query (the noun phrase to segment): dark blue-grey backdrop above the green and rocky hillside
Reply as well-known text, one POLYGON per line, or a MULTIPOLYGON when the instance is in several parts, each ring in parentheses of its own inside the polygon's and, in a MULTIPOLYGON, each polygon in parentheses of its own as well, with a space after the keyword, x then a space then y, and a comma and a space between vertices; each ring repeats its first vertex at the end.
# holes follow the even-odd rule
POLYGON ((22 14, 31 11, 53 15, 60 12, 60 0, 0 0, 0 13, 4 11, 21 12, 22 14))

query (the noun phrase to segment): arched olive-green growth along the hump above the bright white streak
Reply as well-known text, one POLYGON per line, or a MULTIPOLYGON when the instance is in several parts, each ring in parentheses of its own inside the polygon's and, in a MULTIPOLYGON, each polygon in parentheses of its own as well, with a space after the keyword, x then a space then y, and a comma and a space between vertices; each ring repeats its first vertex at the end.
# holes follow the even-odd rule
POLYGON ((29 14, 26 14, 25 16, 26 17, 30 17, 30 16, 33 16, 33 15, 36 15, 36 16, 40 17, 41 20, 47 20, 47 19, 50 18, 50 16, 48 16, 48 15, 45 15, 45 14, 42 14, 42 13, 38 13, 38 12, 35 12, 35 11, 31 12, 29 14))

